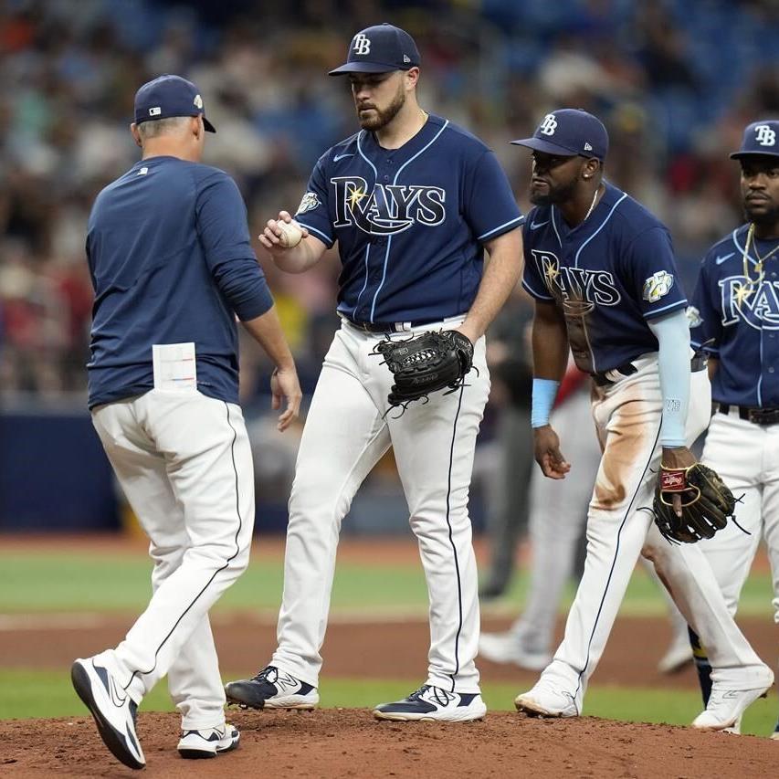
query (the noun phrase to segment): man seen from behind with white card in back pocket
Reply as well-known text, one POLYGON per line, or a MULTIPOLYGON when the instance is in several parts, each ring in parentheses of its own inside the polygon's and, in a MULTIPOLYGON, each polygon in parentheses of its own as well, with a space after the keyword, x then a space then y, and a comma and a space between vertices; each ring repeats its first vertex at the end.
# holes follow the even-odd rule
POLYGON ((153 597, 118 647, 76 660, 71 675, 111 753, 142 768, 135 712, 165 674, 182 757, 214 757, 239 740, 225 722, 208 623, 247 566, 254 524, 236 316, 277 366, 279 430, 298 415, 300 385, 237 186, 199 163, 215 131, 195 85, 178 76, 144 84, 131 131, 142 160, 89 216, 89 408, 149 535, 153 597))

